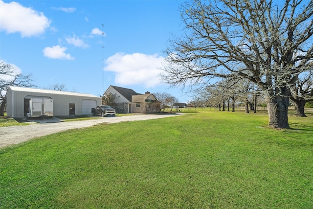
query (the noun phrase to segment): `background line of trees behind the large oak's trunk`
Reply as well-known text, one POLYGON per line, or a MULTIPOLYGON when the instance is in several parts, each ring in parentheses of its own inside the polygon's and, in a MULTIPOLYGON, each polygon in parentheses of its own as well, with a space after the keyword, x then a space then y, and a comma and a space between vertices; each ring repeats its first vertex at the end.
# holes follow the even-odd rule
MULTIPOLYGON (((312 77, 305 82, 297 81, 294 88, 294 92, 297 93, 291 94, 290 105, 294 106, 295 116, 306 116, 305 106, 311 107, 313 104, 312 77)), ((248 80, 222 80, 197 91, 193 102, 201 101, 203 104, 210 104, 223 110, 227 104, 228 111, 231 108, 234 112, 236 103, 244 103, 246 113, 249 113, 249 110, 256 113, 257 106, 267 107, 266 94, 248 80)))

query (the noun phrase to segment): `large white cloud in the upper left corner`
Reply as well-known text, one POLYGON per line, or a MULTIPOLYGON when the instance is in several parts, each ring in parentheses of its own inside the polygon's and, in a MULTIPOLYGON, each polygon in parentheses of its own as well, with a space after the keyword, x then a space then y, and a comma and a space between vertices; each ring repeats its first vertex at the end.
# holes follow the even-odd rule
POLYGON ((50 26, 51 21, 44 13, 23 7, 17 2, 4 3, 0 0, 0 30, 7 33, 21 33, 22 37, 40 35, 50 26))

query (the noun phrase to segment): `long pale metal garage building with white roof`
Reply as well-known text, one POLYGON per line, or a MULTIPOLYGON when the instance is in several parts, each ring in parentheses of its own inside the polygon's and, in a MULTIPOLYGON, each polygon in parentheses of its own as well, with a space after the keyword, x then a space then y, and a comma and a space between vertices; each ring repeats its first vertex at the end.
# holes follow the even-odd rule
POLYGON ((6 112, 9 117, 24 117, 29 100, 53 99, 54 116, 89 115, 91 108, 101 105, 101 97, 88 93, 61 92, 9 86, 6 94, 6 112))

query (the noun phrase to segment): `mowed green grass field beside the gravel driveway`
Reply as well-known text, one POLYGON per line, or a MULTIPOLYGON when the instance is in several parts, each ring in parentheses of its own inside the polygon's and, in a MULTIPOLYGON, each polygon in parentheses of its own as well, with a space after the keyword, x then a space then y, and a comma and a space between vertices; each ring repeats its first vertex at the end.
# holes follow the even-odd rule
MULTIPOLYGON (((0 149, 0 208, 313 208, 313 114, 193 109, 0 149)), ((18 127, 17 127, 18 128, 18 127)))

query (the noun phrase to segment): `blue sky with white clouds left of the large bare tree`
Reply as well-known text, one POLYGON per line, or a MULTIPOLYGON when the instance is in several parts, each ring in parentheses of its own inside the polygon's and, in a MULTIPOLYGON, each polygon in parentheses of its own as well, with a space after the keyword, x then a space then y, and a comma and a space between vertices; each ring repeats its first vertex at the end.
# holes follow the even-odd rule
POLYGON ((38 88, 102 95, 110 85, 137 93, 179 88, 158 77, 163 50, 179 36, 181 0, 0 0, 0 60, 32 74, 38 88), (102 70, 103 69, 103 70, 102 70))

